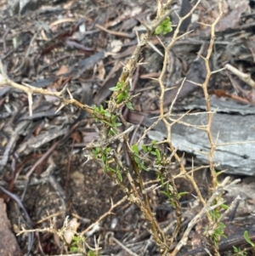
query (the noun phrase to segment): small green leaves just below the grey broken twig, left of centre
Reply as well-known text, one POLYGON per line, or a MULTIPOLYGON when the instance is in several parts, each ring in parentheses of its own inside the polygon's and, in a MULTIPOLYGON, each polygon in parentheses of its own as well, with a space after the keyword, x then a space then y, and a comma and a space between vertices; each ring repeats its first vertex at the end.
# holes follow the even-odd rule
POLYGON ((110 165, 111 162, 114 162, 110 147, 105 147, 105 149, 97 147, 93 151, 93 154, 96 159, 100 159, 103 162, 103 164, 104 164, 103 171, 105 173, 110 171, 110 172, 116 174, 117 178, 122 182, 122 171, 121 171, 119 165, 116 165, 116 168, 112 168, 110 165))

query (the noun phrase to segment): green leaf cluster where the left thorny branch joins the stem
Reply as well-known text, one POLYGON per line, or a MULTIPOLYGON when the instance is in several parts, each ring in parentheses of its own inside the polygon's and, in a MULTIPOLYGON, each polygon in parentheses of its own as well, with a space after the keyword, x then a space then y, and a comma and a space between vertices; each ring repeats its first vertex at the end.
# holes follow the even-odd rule
MULTIPOLYGON (((104 109, 102 105, 100 106, 94 105, 94 111, 99 115, 103 117, 108 117, 110 119, 109 122, 103 119, 101 120, 101 122, 104 122, 109 127, 109 132, 108 132, 109 136, 116 135, 118 133, 116 128, 119 126, 122 126, 122 122, 117 122, 117 116, 109 113, 107 110, 104 109)), ((98 121, 97 118, 96 118, 96 121, 98 121)))

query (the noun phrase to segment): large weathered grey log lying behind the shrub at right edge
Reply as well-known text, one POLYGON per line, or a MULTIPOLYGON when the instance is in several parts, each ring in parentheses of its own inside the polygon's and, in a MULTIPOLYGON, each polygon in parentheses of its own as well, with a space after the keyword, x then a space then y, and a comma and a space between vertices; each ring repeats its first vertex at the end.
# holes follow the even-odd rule
MULTIPOLYGON (((216 100, 216 102, 218 101, 216 100)), ((216 148, 214 162, 219 162, 218 169, 227 169, 226 173, 228 174, 255 175, 255 115, 253 114, 255 113, 255 107, 252 105, 241 106, 233 101, 224 101, 222 105, 215 104, 214 109, 217 107, 218 112, 213 115, 212 120, 212 136, 215 143, 220 146, 216 148), (246 116, 238 115, 239 109, 241 114, 246 114, 246 116), (231 115, 225 112, 229 112, 231 115), (230 145, 227 145, 228 143, 230 145)), ((191 105, 185 108, 185 110, 188 109, 192 109, 191 105)), ((131 113, 129 120, 133 123, 139 123, 140 117, 138 115, 131 113)), ((173 116, 171 120, 176 120, 180 116, 173 116)), ((144 117, 143 125, 149 127, 153 122, 155 122, 155 119, 144 117)), ((195 125, 202 126, 207 123, 207 114, 193 114, 192 116, 184 117, 181 122, 173 125, 173 145, 179 151, 193 153, 201 162, 207 163, 206 154, 210 147, 207 135, 204 130, 195 128, 195 125), (187 123, 190 126, 186 126, 185 124, 187 123)), ((161 122, 155 129, 161 136, 167 137, 166 130, 161 122)))

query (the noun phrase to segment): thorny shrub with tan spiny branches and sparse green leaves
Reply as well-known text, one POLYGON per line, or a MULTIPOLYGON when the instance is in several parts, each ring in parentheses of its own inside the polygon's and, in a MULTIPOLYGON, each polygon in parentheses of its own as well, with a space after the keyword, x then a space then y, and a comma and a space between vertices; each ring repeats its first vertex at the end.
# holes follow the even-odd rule
MULTIPOLYGON (((82 105, 80 102, 72 98, 68 89, 67 92, 70 94, 70 99, 66 99, 66 87, 59 93, 53 93, 41 88, 33 88, 28 85, 24 86, 12 82, 4 73, 2 65, 1 71, 3 73, 3 77, 5 77, 5 80, 3 82, 5 84, 13 86, 14 88, 20 88, 20 90, 23 90, 26 92, 26 94, 28 94, 30 110, 32 105, 32 94, 51 94, 58 97, 62 101, 62 106, 77 105, 78 107, 91 114, 97 122, 101 122, 103 124, 103 128, 100 130, 99 128, 97 128, 96 125, 94 125, 95 130, 99 134, 99 139, 97 142, 91 142, 86 147, 86 156, 88 157, 88 160, 94 160, 96 162, 99 162, 105 174, 108 175, 116 183, 116 185, 119 185, 122 188, 122 191, 126 194, 125 199, 127 199, 129 202, 136 204, 139 210, 144 214, 145 219, 150 225, 151 236, 155 240, 161 255, 176 255, 180 248, 186 244, 188 236, 190 234, 190 230, 195 226, 198 219, 200 219, 203 215, 207 215, 208 220, 208 225, 204 230, 204 237, 207 241, 207 248, 209 249, 209 251, 212 252, 213 255, 219 255, 218 242, 222 237, 224 237, 224 223, 222 222, 222 219, 224 215, 229 212, 229 209, 232 208, 233 205, 235 205, 235 202, 233 202, 230 207, 224 205, 222 199, 223 186, 228 186, 228 180, 226 179, 222 184, 218 184, 218 176, 212 162, 213 153, 215 151, 216 145, 214 144, 214 141, 212 139, 211 126, 213 113, 211 111, 210 99, 207 92, 207 85, 209 79, 212 75, 212 72, 215 72, 210 70, 209 60, 212 54, 212 47, 215 38, 215 26, 222 15, 221 0, 218 0, 218 17, 212 23, 212 25, 210 25, 211 41, 207 50, 207 56, 203 58, 207 67, 207 76, 205 81, 198 85, 201 86, 201 88, 203 89, 204 98, 207 104, 207 126, 204 131, 205 133, 207 133, 208 145, 210 148, 207 156, 210 173, 212 176, 212 184, 210 187, 210 191, 212 191, 211 197, 207 200, 203 198, 198 185, 195 183, 192 172, 186 171, 182 159, 177 154, 177 149, 172 144, 171 128, 174 125, 174 122, 169 122, 167 117, 171 116, 173 104, 174 101, 177 99, 178 94, 176 95, 176 99, 173 100, 173 104, 169 107, 169 111, 167 112, 167 114, 164 113, 163 108, 164 94, 166 88, 164 87, 164 84, 162 82, 162 77, 164 76, 164 73, 166 71, 168 51, 173 47, 173 44, 176 43, 180 37, 182 37, 179 36, 179 28, 182 25, 183 21, 190 17, 190 15, 194 12, 200 1, 197 1, 195 3, 189 14, 186 14, 184 17, 178 17, 179 22, 173 32, 171 42, 167 45, 162 45, 165 50, 165 54, 161 75, 157 80, 161 93, 158 99, 160 105, 160 116, 158 117, 156 122, 150 128, 147 128, 144 131, 144 134, 138 141, 131 143, 129 139, 130 134, 134 129, 134 126, 126 122, 124 117, 122 117, 123 107, 127 106, 128 109, 133 110, 132 100, 137 96, 130 93, 130 88, 132 88, 133 73, 139 65, 139 54, 150 42, 150 37, 155 34, 161 37, 167 32, 173 30, 173 25, 171 23, 171 20, 169 19, 169 14, 172 12, 172 10, 170 9, 171 3, 173 3, 173 1, 171 0, 168 0, 167 3, 161 3, 161 1, 157 1, 156 18, 152 22, 152 24, 147 25, 146 33, 139 36, 139 43, 135 51, 133 52, 132 57, 127 60, 126 65, 123 66, 122 75, 119 77, 119 82, 117 82, 117 84, 111 88, 111 91, 113 93, 111 94, 111 99, 107 102, 105 107, 103 105, 95 105, 92 108, 88 105, 82 105), (146 136, 146 134, 148 134, 150 129, 153 128, 158 122, 163 122, 165 124, 167 129, 167 139, 163 141, 153 140, 150 142, 150 144, 144 145, 142 143, 144 137, 146 136), (120 127, 122 127, 122 132, 120 132, 120 127), (116 153, 114 147, 116 141, 122 143, 122 147, 125 148, 125 150, 127 151, 128 160, 131 166, 128 166, 127 162, 123 161, 123 156, 119 156, 116 153), (167 145, 169 153, 162 151, 159 145, 167 145), (201 212, 198 213, 194 217, 194 219, 190 221, 190 224, 184 231, 184 235, 181 237, 181 239, 179 239, 178 244, 174 247, 174 249, 170 251, 171 244, 173 243, 173 240, 177 240, 177 236, 179 235, 179 230, 182 224, 182 208, 180 204, 180 198, 185 194, 185 191, 178 191, 175 185, 175 179, 171 174, 171 170, 169 167, 173 160, 175 162, 178 162, 179 165, 178 177, 183 177, 184 179, 190 181, 190 184, 195 190, 197 198, 202 204, 202 209, 201 212), (160 180, 160 185, 158 185, 157 187, 154 185, 151 187, 146 187, 144 185, 144 179, 142 178, 141 174, 143 172, 149 172, 151 170, 156 173, 158 180, 160 180), (167 196, 167 198, 173 205, 176 213, 175 228, 170 235, 167 235, 166 230, 161 229, 160 225, 156 220, 156 213, 153 213, 150 208, 148 192, 159 189, 159 187, 161 187, 162 193, 167 196)), ((112 204, 112 208, 115 208, 116 205, 112 204)), ((111 213, 111 210, 108 213, 105 213, 105 215, 109 213, 111 213)), ((102 218, 103 217, 105 216, 102 216, 102 218)), ((87 252, 86 254, 88 255, 99 255, 97 248, 88 247, 86 239, 84 239, 84 235, 86 234, 86 232, 89 229, 92 229, 96 224, 98 224, 99 220, 97 221, 97 223, 91 225, 90 227, 88 227, 87 230, 83 230, 81 233, 73 230, 73 234, 75 234, 75 236, 73 236, 72 242, 70 242, 69 244, 69 249, 71 250, 71 252, 87 252)), ((61 230, 62 233, 66 229, 68 229, 68 225, 63 226, 61 230)), ((30 230, 24 231, 27 232, 30 230)), ((48 231, 59 234, 59 232, 56 232, 54 229, 48 229, 48 231)), ((63 238, 63 234, 61 234, 59 234, 59 237, 63 238)), ((248 236, 246 236, 246 239, 248 241, 248 236)), ((252 245, 252 243, 250 244, 252 245)), ((245 255, 245 252, 242 252, 236 247, 235 253, 239 253, 239 255, 245 255)))

